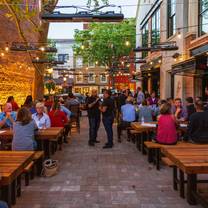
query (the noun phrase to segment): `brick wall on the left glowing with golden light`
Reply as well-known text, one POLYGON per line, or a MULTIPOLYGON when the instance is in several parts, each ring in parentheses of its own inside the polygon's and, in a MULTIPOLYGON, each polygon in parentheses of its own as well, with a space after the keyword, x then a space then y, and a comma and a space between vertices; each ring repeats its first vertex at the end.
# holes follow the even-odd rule
MULTIPOLYGON (((29 9, 35 9, 37 12, 33 21, 40 26, 39 20, 40 1, 29 1, 29 9)), ((24 7, 24 6, 23 6, 24 7)), ((24 8, 22 8, 24 9, 24 8)), ((18 32, 15 18, 8 18, 9 9, 6 5, 0 11, 0 104, 4 104, 7 97, 13 95, 19 105, 24 103, 27 95, 38 97, 43 94, 42 75, 37 72, 29 53, 26 51, 5 51, 5 47, 10 47, 12 43, 24 42, 18 32), (7 14, 7 16, 6 16, 7 14)), ((34 30, 33 25, 29 21, 20 21, 20 28, 28 42, 37 43, 40 40, 40 32, 34 30)), ((36 57, 36 52, 31 53, 36 57)), ((42 66, 37 66, 41 70, 42 66)))

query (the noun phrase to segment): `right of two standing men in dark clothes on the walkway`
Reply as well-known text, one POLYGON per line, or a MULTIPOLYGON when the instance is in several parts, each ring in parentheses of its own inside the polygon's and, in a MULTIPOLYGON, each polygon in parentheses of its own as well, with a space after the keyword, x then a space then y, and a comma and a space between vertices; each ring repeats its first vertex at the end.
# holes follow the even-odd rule
POLYGON ((108 142, 103 147, 103 149, 106 149, 113 147, 114 101, 111 98, 110 90, 105 90, 103 97, 104 100, 99 109, 103 115, 102 121, 108 138, 108 142))

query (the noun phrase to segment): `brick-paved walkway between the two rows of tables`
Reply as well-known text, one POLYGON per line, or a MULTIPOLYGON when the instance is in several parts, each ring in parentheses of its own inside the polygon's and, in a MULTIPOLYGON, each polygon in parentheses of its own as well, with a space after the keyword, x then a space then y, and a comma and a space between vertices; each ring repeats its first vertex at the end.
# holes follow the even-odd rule
POLYGON ((84 118, 81 133, 74 134, 72 143, 55 155, 60 161, 59 174, 35 178, 30 186, 23 186, 15 208, 191 207, 173 191, 169 168, 156 171, 146 156, 126 141, 103 150, 103 127, 99 131, 101 144, 88 147, 87 128, 84 118))

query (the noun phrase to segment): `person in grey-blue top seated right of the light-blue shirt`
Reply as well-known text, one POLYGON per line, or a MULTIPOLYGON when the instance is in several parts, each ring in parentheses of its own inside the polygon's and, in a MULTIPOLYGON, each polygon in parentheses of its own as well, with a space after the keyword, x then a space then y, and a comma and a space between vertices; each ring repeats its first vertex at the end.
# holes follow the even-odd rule
POLYGON ((152 122, 152 109, 147 105, 147 101, 142 101, 142 106, 139 109, 139 122, 152 122))

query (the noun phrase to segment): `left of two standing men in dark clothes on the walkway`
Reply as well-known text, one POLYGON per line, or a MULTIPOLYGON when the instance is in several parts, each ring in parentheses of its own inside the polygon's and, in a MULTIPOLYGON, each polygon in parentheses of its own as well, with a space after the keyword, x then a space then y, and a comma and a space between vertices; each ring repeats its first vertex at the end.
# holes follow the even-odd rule
POLYGON ((97 141, 97 132, 100 126, 100 111, 99 111, 99 100, 97 96, 97 90, 92 90, 92 95, 88 97, 86 105, 89 119, 89 146, 95 146, 97 141))

